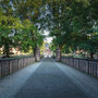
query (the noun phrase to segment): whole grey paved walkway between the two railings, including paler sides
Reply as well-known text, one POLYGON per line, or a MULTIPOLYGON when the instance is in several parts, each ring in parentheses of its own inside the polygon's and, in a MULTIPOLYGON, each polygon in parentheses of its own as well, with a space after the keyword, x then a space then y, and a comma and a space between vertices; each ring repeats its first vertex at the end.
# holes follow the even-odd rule
POLYGON ((98 79, 44 59, 1 79, 0 98, 98 98, 98 79))

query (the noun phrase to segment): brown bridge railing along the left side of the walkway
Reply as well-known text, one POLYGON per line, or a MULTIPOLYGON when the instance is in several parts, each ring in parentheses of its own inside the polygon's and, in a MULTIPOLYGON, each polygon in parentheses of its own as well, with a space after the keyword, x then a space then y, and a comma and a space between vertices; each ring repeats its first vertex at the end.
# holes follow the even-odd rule
POLYGON ((35 62, 34 57, 24 57, 17 59, 1 59, 0 60, 0 78, 16 72, 35 62))

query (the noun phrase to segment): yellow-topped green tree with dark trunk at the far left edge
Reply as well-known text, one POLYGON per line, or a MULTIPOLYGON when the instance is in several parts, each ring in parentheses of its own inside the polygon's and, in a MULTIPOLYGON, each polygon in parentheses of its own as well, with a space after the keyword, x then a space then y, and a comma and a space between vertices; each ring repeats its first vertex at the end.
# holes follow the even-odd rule
POLYGON ((16 46, 15 33, 21 27, 19 19, 0 14, 0 47, 3 48, 4 57, 9 58, 11 47, 16 46))

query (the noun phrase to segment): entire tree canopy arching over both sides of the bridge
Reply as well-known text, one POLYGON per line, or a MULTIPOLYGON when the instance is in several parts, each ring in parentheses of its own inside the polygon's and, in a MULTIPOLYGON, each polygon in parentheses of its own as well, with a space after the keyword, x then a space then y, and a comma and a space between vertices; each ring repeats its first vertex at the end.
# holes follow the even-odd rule
POLYGON ((0 47, 27 52, 41 46, 40 30, 49 29, 62 52, 98 51, 98 0, 0 0, 0 47))

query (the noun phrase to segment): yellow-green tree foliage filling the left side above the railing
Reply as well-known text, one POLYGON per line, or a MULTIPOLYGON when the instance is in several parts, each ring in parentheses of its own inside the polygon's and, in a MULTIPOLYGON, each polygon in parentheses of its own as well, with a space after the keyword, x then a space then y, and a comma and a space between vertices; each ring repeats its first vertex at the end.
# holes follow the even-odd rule
POLYGON ((35 22, 29 19, 30 14, 37 11, 34 9, 38 5, 32 8, 28 14, 29 10, 26 5, 30 8, 32 1, 29 1, 25 3, 23 0, 0 0, 0 48, 3 49, 2 52, 7 58, 10 57, 10 49, 13 47, 24 52, 32 49, 35 56, 37 46, 40 47, 44 41, 44 36, 35 22), (25 12, 20 12, 22 10, 25 12))

